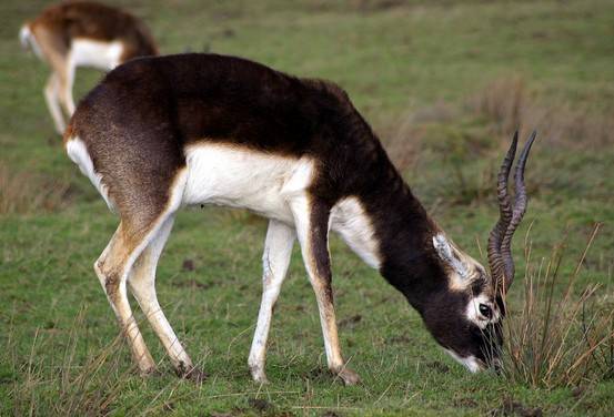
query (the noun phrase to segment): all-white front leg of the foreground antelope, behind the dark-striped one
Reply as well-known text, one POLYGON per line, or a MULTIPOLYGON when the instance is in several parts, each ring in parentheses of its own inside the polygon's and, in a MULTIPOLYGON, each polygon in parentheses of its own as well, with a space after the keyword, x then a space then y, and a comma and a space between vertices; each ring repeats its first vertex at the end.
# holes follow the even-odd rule
POLYGON ((281 285, 292 257, 292 246, 296 233, 281 222, 271 220, 262 255, 262 302, 258 314, 258 324, 250 349, 248 364, 252 378, 256 383, 266 383, 264 365, 266 360, 266 339, 271 328, 273 307, 280 295, 281 285))

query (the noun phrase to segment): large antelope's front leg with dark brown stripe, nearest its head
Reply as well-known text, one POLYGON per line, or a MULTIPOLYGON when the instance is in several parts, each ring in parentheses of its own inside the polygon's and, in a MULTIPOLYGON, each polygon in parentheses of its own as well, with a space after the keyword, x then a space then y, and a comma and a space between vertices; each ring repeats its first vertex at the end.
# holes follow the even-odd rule
POLYGON ((358 384, 359 375, 345 366, 341 355, 336 329, 329 254, 330 206, 305 195, 292 200, 291 208, 305 268, 318 301, 329 369, 345 385, 358 384))

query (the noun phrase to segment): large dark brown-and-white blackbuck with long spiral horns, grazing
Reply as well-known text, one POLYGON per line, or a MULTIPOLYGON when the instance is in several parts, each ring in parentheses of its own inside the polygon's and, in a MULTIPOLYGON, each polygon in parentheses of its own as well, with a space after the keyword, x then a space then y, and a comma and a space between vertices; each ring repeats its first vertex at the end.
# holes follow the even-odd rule
POLYGON ((489 241, 491 274, 463 253, 403 182, 345 92, 239 58, 143 58, 110 72, 79 104, 64 134, 68 155, 89 176, 119 227, 94 269, 142 373, 153 362, 134 322, 127 285, 177 372, 203 374, 178 340, 154 289, 158 258, 178 210, 244 207, 269 221, 263 295, 249 368, 265 382, 266 338, 294 240, 315 292, 328 366, 359 376, 341 354, 329 233, 338 232, 417 309, 434 338, 476 372, 497 360, 503 296, 514 278, 511 241, 526 207, 517 136, 499 174, 501 217, 489 241))

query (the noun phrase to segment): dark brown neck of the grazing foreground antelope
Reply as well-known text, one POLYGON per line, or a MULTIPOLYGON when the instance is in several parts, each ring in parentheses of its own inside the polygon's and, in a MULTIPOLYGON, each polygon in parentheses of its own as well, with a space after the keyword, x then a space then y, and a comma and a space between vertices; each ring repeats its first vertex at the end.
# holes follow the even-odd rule
MULTIPOLYGON (((352 143, 351 167, 344 175, 346 194, 360 196, 379 241, 384 278, 421 312, 429 294, 445 287, 445 274, 433 248, 440 232, 390 161, 381 141, 353 108, 345 108, 335 136, 352 143), (352 170, 349 170, 352 171, 352 170)), ((336 160, 343 159, 339 156, 336 160)))

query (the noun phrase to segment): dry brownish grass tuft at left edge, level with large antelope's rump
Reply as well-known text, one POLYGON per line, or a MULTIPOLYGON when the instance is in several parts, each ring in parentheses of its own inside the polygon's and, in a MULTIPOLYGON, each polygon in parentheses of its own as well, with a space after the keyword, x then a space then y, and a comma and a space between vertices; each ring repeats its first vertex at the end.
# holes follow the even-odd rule
POLYGON ((49 181, 27 171, 14 172, 0 162, 0 215, 58 210, 69 192, 68 181, 49 181))

